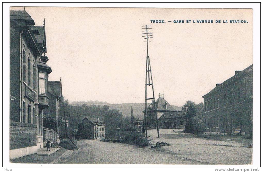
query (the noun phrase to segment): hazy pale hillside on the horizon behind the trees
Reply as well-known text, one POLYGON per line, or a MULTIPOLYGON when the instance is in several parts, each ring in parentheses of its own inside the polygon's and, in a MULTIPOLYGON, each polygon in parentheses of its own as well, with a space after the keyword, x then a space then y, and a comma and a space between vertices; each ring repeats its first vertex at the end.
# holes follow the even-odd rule
MULTIPOLYGON (((73 106, 77 105, 108 105, 110 109, 117 109, 118 111, 122 112, 123 117, 130 117, 131 115, 131 106, 133 107, 133 114, 135 118, 141 117, 143 118, 143 110, 145 109, 145 104, 144 103, 118 103, 118 104, 110 104, 107 102, 98 102, 98 101, 82 101, 82 102, 72 102, 70 103, 73 106)), ((148 103, 147 106, 149 106, 150 103, 148 103)), ((173 105, 172 105, 173 106, 173 105)), ((181 111, 181 107, 178 106, 173 106, 173 108, 177 111, 181 111)))

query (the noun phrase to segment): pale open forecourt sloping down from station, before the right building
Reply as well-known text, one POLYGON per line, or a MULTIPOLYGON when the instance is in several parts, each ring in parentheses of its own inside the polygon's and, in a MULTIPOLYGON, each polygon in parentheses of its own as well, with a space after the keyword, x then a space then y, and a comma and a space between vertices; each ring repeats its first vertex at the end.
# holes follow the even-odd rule
MULTIPOLYGON (((205 164, 251 164, 252 139, 240 136, 186 134, 184 129, 160 129, 160 138, 156 130, 148 130, 151 144, 166 142, 171 146, 155 149, 161 154, 173 154, 205 164)), ((183 164, 183 163, 180 163, 183 164)))

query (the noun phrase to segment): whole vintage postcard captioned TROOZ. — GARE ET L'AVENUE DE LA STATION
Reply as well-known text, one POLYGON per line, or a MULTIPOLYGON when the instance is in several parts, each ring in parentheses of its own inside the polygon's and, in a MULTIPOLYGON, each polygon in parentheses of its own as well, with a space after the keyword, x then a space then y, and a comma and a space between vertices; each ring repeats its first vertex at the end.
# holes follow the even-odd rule
POLYGON ((253 24, 252 8, 11 6, 10 164, 253 165, 253 24))

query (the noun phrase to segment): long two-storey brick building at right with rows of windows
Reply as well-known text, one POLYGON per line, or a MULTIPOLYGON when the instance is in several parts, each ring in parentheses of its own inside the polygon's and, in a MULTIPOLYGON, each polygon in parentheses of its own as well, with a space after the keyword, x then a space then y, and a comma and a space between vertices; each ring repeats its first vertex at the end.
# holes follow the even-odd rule
POLYGON ((253 65, 235 75, 203 96, 204 133, 252 132, 253 65))

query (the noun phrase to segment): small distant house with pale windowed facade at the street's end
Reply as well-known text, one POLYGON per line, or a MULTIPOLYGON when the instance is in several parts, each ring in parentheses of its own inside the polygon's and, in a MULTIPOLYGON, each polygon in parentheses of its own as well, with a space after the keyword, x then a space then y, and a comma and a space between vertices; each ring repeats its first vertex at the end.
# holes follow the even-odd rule
MULTIPOLYGON (((85 117, 82 120, 88 126, 87 135, 93 139, 104 139, 105 138, 105 124, 103 121, 100 121, 99 118, 89 118, 85 117)), ((79 130, 78 130, 79 131, 79 130)))

